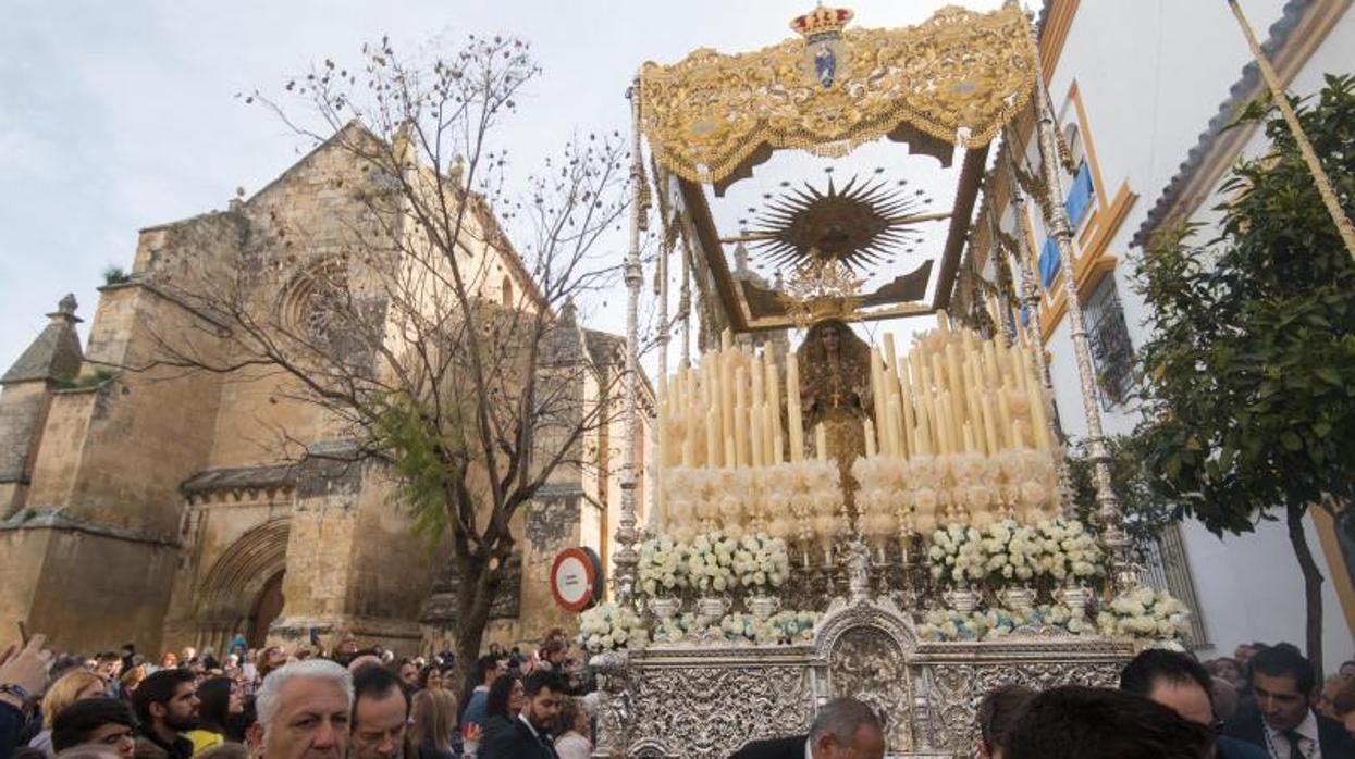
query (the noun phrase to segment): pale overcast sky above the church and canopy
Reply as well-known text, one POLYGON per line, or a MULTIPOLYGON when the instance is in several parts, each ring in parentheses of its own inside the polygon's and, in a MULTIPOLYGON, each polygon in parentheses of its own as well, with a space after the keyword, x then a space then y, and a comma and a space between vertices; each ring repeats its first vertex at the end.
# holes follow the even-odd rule
MULTIPOLYGON (((856 24, 888 27, 940 4, 848 5, 856 24)), ((514 34, 543 68, 505 133, 526 172, 575 129, 625 130, 623 92, 646 58, 771 45, 812 5, 0 0, 0 372, 64 294, 92 318, 103 269, 130 268, 138 229, 224 208, 236 187, 252 193, 297 160, 306 145, 237 100, 240 91, 276 91, 310 62, 352 60, 382 34, 405 49, 440 34, 514 34)), ((595 314, 599 326, 618 329, 619 306, 618 296, 595 314)))

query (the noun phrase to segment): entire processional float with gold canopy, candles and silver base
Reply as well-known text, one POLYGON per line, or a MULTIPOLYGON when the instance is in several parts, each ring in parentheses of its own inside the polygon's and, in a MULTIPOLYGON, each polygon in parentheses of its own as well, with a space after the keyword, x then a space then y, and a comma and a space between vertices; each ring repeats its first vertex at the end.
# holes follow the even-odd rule
MULTIPOLYGON (((623 503, 614 602, 580 625, 604 694, 598 756, 726 756, 804 732, 836 695, 885 716, 893 756, 967 755, 991 687, 1112 683, 1135 645, 1183 629, 1179 602, 1137 578, 1076 292, 1096 487, 1085 520, 1038 321, 995 319, 973 294, 947 314, 957 280, 974 281, 958 276, 966 241, 995 238, 972 229, 989 146, 1023 114, 1041 176, 1020 185, 1046 195, 1037 206, 1070 260, 1030 20, 1012 1, 906 28, 851 18, 820 5, 780 45, 645 64, 629 92, 623 503), (951 187, 950 207, 932 207, 951 187), (652 212, 660 376, 641 525, 652 212), (911 345, 877 334, 924 315, 936 327, 911 345)), ((1028 296, 1030 261, 1016 258, 1028 296)))

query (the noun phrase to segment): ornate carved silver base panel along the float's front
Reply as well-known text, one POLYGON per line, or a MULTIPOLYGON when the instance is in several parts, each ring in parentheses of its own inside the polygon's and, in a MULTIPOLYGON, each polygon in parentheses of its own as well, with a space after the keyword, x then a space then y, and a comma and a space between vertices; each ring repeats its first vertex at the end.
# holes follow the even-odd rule
POLYGON ((751 740, 806 732, 817 704, 835 695, 882 712, 892 756, 967 756, 992 687, 1112 685, 1131 655, 1129 641, 1051 630, 920 641, 889 599, 837 599, 813 645, 679 644, 595 658, 606 691, 595 756, 728 756, 751 740))

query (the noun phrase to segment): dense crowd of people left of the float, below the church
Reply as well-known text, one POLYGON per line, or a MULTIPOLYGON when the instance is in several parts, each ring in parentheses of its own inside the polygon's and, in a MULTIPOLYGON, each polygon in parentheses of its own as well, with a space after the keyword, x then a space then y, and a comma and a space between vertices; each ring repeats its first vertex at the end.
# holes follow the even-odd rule
POLYGON ((528 655, 491 644, 398 658, 236 639, 146 662, 131 645, 56 655, 34 636, 0 658, 0 759, 585 759, 596 697, 551 630, 528 655))

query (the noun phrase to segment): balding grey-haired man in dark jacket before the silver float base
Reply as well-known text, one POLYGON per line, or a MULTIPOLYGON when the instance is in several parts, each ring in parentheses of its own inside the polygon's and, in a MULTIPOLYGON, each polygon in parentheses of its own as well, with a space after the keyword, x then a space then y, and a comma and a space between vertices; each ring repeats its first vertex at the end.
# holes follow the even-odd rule
POLYGON ((855 698, 818 708, 809 735, 756 740, 729 759, 883 759, 885 731, 875 710, 855 698))

